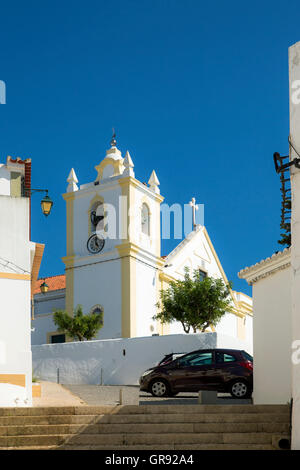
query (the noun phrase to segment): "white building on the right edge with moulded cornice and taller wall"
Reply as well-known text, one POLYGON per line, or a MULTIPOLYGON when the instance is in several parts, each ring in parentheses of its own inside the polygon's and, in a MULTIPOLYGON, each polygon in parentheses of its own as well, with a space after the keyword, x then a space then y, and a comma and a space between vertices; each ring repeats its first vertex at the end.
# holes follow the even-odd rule
POLYGON ((254 403, 291 401, 292 448, 300 450, 300 42, 289 48, 289 96, 289 158, 282 163, 290 163, 291 248, 239 275, 253 285, 254 403))

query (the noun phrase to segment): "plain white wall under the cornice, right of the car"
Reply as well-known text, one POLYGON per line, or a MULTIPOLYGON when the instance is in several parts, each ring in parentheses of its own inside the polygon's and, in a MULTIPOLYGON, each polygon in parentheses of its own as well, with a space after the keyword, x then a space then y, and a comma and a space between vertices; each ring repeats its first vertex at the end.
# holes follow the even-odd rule
POLYGON ((253 285, 255 404, 291 399, 291 268, 253 285))

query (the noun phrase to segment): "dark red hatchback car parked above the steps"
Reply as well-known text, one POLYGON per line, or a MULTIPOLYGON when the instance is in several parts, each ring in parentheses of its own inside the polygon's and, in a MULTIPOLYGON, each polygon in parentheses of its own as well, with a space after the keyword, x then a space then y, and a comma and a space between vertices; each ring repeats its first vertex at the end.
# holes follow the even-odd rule
POLYGON ((199 390, 250 397, 253 358, 237 349, 200 349, 146 370, 140 378, 140 389, 155 397, 199 390))

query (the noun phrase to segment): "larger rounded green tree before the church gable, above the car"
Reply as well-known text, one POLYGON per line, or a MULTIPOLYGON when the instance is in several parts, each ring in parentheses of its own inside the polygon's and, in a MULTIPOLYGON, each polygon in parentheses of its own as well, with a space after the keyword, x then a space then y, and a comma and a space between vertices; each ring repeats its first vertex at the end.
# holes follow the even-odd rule
POLYGON ((201 278, 195 270, 192 277, 185 269, 184 280, 170 282, 168 289, 160 291, 160 309, 153 319, 161 323, 180 322, 185 333, 192 328, 204 332, 210 325, 215 326, 226 312, 232 311, 230 300, 231 284, 222 279, 201 278))

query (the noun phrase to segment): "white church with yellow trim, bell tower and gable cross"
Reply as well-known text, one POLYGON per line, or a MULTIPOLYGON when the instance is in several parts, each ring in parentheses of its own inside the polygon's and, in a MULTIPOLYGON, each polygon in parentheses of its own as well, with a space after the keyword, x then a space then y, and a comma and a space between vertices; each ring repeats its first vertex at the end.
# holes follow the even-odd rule
MULTIPOLYGON (((167 256, 161 253, 160 183, 153 170, 148 184, 135 178, 127 151, 122 156, 115 135, 92 182, 78 185, 72 168, 66 203, 65 274, 40 279, 34 295, 32 344, 69 341, 57 331, 53 311, 103 312, 97 339, 134 338, 183 333, 180 323, 153 320, 159 293, 182 279, 185 267, 202 276, 225 272, 205 226, 197 225, 167 256), (96 233, 97 232, 97 233, 96 233)), ((195 209, 195 202, 193 210, 195 209)), ((252 345, 252 299, 230 292, 232 307, 216 331, 252 345)))

